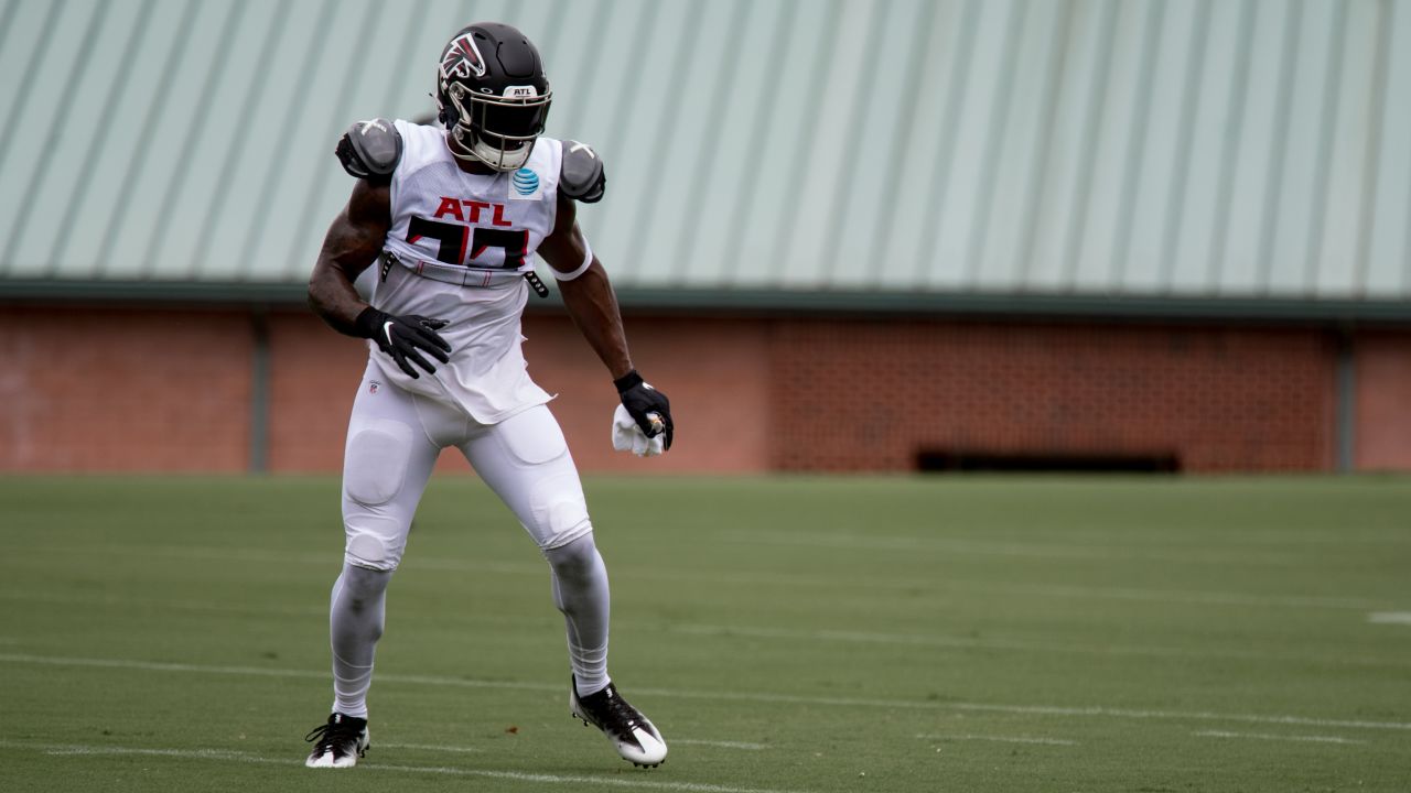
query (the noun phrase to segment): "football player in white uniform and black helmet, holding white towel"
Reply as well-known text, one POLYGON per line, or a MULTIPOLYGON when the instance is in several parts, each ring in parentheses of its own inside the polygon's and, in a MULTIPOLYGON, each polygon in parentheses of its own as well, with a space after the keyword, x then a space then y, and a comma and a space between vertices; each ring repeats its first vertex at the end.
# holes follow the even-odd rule
POLYGON ((519 322, 539 254, 622 404, 670 447, 670 404, 632 367, 617 298, 574 202, 602 198, 602 161, 543 137, 552 93, 518 30, 473 24, 443 48, 442 126, 374 119, 336 154, 357 178, 329 227, 309 303, 368 339, 343 459, 343 571, 333 584, 333 713, 308 739, 309 768, 347 768, 368 748, 367 691, 388 581, 442 449, 459 449, 549 562, 571 667, 570 713, 618 753, 656 766, 666 742, 608 677, 608 577, 549 395, 525 370, 519 322), (354 279, 378 262, 371 305, 354 279))

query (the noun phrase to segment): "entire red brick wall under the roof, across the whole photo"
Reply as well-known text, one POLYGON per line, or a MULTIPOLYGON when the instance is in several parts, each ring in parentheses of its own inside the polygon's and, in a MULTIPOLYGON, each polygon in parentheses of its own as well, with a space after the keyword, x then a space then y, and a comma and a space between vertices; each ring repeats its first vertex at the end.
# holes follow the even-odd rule
MULTIPOLYGON (((921 452, 1335 466, 1326 329, 684 315, 626 327, 680 426, 662 459, 611 450, 615 392, 571 323, 525 320, 529 371, 559 394, 584 471, 906 471, 921 452)), ((253 329, 238 309, 7 306, 0 470, 246 470, 253 329)), ((301 310, 267 329, 270 468, 337 471, 365 349, 301 310)), ((1411 470, 1411 332, 1363 332, 1353 350, 1356 464, 1411 470)))

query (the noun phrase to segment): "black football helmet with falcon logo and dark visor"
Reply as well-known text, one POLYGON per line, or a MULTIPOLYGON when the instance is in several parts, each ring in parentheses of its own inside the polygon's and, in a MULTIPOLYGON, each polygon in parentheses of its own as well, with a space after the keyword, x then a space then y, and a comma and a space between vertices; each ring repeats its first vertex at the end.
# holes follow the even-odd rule
POLYGON ((464 27, 442 49, 436 109, 463 150, 452 147, 457 159, 495 171, 522 168, 552 99, 539 51, 509 25, 464 27))

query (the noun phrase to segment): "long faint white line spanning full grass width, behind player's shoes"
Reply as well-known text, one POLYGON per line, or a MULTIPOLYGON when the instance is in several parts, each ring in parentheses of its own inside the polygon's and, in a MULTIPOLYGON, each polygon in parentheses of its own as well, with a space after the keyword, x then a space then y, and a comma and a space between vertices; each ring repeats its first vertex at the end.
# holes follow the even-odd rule
MULTIPOLYGON (((148 672, 193 672, 205 674, 253 674, 262 677, 302 677, 327 680, 327 672, 312 672, 303 669, 275 669, 257 666, 214 666, 196 663, 164 663, 131 659, 104 658, 59 658, 21 653, 0 653, 0 663, 35 663, 44 666, 93 666, 107 669, 138 669, 148 672)), ((452 686, 463 689, 512 689, 521 691, 562 691, 562 686, 549 683, 521 683, 515 680, 474 680, 468 677, 436 677, 429 674, 378 674, 378 683, 409 683, 419 686, 452 686)), ((683 691, 677 689, 634 689, 638 694, 653 697, 670 697, 680 700, 731 700, 746 703, 777 703, 800 706, 837 706, 837 707, 879 707, 879 708, 907 708, 907 710, 962 710, 975 713, 1020 713, 1031 715, 1072 715, 1072 717, 1106 717, 1106 718, 1139 718, 1139 720, 1167 720, 1167 721, 1243 721, 1250 724, 1298 724, 1304 727, 1348 727, 1355 730, 1405 730, 1411 731, 1411 722, 1405 721, 1363 721, 1340 718, 1311 718, 1302 715, 1274 715, 1253 713, 1211 713, 1211 711, 1164 711, 1164 710, 1134 710, 1109 708, 1102 706, 1068 707, 1068 706, 1015 706, 991 703, 961 703, 943 700, 872 700, 855 697, 809 697, 801 694, 770 694, 765 691, 683 691)))

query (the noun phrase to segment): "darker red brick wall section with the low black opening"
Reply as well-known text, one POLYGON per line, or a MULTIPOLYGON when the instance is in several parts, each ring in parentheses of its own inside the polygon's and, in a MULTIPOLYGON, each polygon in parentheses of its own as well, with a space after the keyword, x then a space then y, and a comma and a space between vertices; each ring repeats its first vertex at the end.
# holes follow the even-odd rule
POLYGON ((921 450, 1333 464, 1318 330, 799 320, 775 344, 773 468, 909 470, 921 450))

